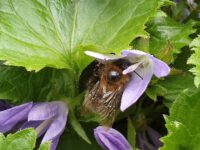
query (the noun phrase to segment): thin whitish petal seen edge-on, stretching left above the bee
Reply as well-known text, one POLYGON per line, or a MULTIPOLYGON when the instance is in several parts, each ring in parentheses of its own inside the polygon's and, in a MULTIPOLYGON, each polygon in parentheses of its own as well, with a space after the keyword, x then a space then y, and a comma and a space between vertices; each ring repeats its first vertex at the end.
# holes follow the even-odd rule
POLYGON ((112 54, 104 55, 104 54, 92 52, 92 51, 85 51, 85 54, 97 59, 98 61, 100 61, 102 63, 107 62, 107 61, 121 59, 121 58, 125 57, 125 56, 117 56, 117 55, 112 55, 112 54))

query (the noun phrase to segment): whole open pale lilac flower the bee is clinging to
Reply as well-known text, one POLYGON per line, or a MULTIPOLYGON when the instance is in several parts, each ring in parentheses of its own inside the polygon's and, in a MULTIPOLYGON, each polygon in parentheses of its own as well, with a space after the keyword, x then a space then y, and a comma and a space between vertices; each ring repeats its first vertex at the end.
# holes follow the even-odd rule
POLYGON ((123 74, 131 74, 131 81, 123 92, 121 111, 126 110, 139 99, 146 90, 153 74, 160 78, 167 76, 170 72, 170 68, 165 62, 139 50, 123 50, 121 56, 104 55, 91 51, 85 51, 85 54, 96 58, 101 63, 109 63, 119 59, 126 59, 130 62, 131 65, 122 72, 123 74))

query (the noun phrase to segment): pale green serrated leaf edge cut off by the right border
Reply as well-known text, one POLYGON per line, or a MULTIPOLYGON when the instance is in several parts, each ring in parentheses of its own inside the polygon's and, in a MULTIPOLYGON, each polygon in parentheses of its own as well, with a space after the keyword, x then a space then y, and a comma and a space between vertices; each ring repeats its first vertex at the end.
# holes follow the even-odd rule
POLYGON ((190 44, 191 50, 194 51, 192 56, 188 59, 188 64, 195 65, 190 71, 195 75, 194 84, 196 87, 200 85, 200 35, 195 38, 190 44))

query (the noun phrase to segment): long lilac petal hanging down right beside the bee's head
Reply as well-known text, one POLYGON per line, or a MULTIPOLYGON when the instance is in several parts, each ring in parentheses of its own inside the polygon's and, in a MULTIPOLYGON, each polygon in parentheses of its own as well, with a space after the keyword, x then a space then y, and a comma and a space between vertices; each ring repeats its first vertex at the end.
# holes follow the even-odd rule
POLYGON ((120 105, 121 111, 124 111, 139 99, 146 90, 152 75, 153 62, 149 62, 145 67, 137 68, 135 72, 132 73, 132 79, 128 83, 122 95, 120 105))

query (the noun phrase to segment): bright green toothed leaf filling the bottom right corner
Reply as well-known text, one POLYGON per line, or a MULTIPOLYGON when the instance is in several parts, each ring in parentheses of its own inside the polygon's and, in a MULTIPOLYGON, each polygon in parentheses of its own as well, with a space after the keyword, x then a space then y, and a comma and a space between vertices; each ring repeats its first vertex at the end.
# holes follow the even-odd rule
POLYGON ((188 96, 183 92, 170 109, 168 135, 163 138, 162 150, 199 149, 200 92, 188 96))

